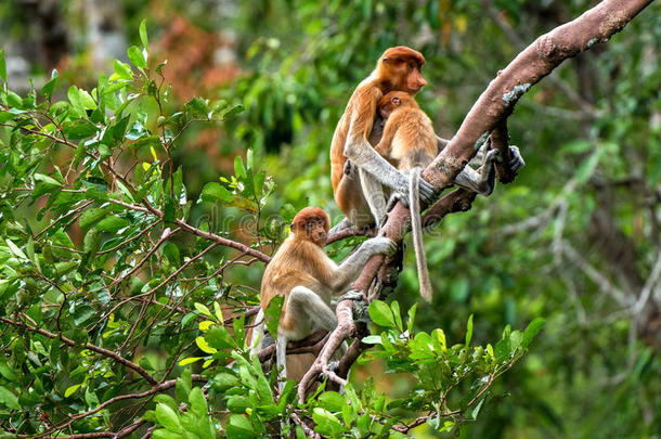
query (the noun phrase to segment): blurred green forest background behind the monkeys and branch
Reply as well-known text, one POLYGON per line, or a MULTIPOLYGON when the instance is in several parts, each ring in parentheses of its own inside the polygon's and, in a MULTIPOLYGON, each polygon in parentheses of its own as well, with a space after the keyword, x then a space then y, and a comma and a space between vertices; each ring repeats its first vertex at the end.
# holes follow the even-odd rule
MULTIPOLYGON (((176 100, 246 107, 221 128, 186 132, 176 167, 190 197, 251 147, 276 183, 267 214, 316 205, 336 223, 330 138, 385 49, 423 52, 429 85, 418 102, 450 138, 498 69, 594 3, 4 0, 0 40, 12 89, 57 68, 63 93, 111 72, 147 18, 151 56, 168 61, 176 100)), ((424 328, 443 327, 452 344, 474 314, 481 343, 505 324, 547 320, 495 385, 502 398, 461 437, 661 437, 660 12, 648 7, 527 93, 508 124, 527 162, 517 180, 426 235, 435 301, 418 310, 424 328)), ((394 294, 405 307, 419 300, 409 256, 394 294)), ((261 271, 232 275, 258 287, 261 271)), ((390 379, 378 387, 392 396, 407 387, 390 379)))

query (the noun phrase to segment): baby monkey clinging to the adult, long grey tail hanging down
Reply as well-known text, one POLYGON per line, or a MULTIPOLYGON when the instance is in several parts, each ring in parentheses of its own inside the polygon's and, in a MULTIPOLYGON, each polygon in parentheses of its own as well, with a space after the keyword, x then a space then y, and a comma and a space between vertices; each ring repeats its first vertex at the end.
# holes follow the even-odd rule
MULTIPOLYGON (((438 154, 438 140, 431 120, 420 109, 415 99, 402 91, 391 91, 378 103, 378 115, 384 121, 384 133, 375 151, 399 171, 410 177, 409 199, 411 209, 411 230, 413 248, 417 263, 420 295, 431 301, 431 283, 427 271, 427 260, 423 248, 423 225, 417 184, 423 168, 427 167, 438 154)), ((483 156, 481 173, 475 172, 480 190, 491 191, 495 183, 493 160, 498 152, 489 151, 483 156)), ((401 196, 401 195, 400 195, 401 196)))

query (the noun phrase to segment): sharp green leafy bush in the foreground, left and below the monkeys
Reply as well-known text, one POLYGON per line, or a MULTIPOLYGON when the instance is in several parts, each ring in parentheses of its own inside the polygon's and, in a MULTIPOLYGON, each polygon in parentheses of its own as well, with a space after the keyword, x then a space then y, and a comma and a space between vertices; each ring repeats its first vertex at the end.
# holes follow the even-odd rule
MULTIPOLYGON (((142 47, 127 51, 131 64, 116 60, 109 77, 89 91, 70 86, 66 100, 54 99, 56 72, 25 96, 2 77, 0 419, 8 431, 128 434, 153 425, 156 438, 249 438, 301 435, 298 416, 325 436, 398 437, 410 428, 396 426, 409 417, 391 414, 402 408, 428 412, 438 430, 475 418, 472 405, 482 405, 530 339, 507 328, 495 353, 488 346, 468 358, 467 347, 440 345, 441 330, 414 334, 415 307, 404 333, 397 301, 373 304, 373 320, 388 332, 367 337, 376 347, 363 361, 388 357, 389 372, 420 379, 407 398, 386 404, 372 385, 349 385, 344 396, 322 385, 301 404, 293 382, 275 392, 277 374, 264 373, 246 338, 243 311, 256 293, 224 281, 230 267, 268 261, 259 249, 282 240, 284 228, 261 217, 275 183, 248 150, 234 175, 202 191, 202 205, 254 218, 248 245, 225 237, 232 222, 220 234, 208 221, 191 223, 194 204, 172 153, 191 125, 222 122, 242 107, 194 98, 168 109, 164 64, 150 60, 144 23, 140 38, 142 47), (26 218, 33 205, 38 211, 26 218), (239 254, 225 259, 212 253, 219 245, 239 254), (439 360, 451 369, 438 369, 439 360), (448 412, 438 396, 476 373, 488 380, 448 412)), ((273 333, 281 307, 267 312, 273 333)))

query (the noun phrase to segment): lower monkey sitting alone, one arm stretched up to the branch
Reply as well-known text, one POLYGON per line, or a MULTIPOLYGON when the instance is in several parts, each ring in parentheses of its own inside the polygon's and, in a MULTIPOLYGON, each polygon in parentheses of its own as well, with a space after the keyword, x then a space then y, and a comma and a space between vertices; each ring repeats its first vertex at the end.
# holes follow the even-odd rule
MULTIPOLYGON (((262 311, 274 296, 285 296, 275 341, 281 377, 286 377, 287 341, 301 340, 320 327, 333 331, 337 320, 330 299, 346 293, 367 259, 376 254, 392 255, 397 249, 393 241, 373 237, 337 266, 324 251, 329 227, 330 219, 324 210, 300 210, 291 223, 291 234, 267 266, 261 281, 262 311)), ((280 386, 282 390, 282 380, 280 386)))

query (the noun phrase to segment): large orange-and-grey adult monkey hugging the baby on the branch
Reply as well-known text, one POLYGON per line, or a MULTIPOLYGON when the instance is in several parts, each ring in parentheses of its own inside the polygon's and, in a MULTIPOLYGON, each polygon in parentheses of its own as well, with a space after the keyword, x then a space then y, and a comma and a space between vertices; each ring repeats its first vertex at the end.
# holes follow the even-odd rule
MULTIPOLYGON (((372 147, 378 143, 378 133, 372 134, 379 100, 390 91, 415 95, 427 81, 420 69, 425 64, 422 53, 398 46, 384 52, 376 68, 353 91, 347 108, 337 124, 330 145, 330 181, 335 201, 347 216, 347 221, 335 230, 348 225, 379 224, 386 214, 383 188, 398 192, 409 199, 409 177, 398 171, 372 147), (350 160, 350 164, 347 163, 350 160), (350 165, 350 166, 346 166, 350 165)), ((436 154, 435 154, 436 155, 436 154)), ((518 150, 513 150, 513 163, 520 163, 518 150)), ((518 167, 520 167, 518 166, 518 167)), ((488 194, 482 178, 472 169, 463 170, 455 183, 471 191, 488 194)), ((419 198, 429 204, 435 196, 431 184, 419 179, 419 198)))

